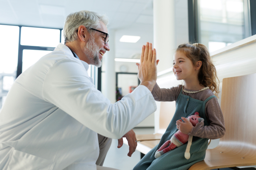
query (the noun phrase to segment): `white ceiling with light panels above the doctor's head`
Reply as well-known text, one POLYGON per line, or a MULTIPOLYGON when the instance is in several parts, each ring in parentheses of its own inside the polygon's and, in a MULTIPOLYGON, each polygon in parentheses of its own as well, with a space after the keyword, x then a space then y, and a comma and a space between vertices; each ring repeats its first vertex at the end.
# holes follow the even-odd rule
POLYGON ((152 0, 0 0, 0 24, 63 28, 65 17, 80 10, 108 16, 108 29, 115 30, 117 58, 132 58, 145 42, 153 42, 152 0), (119 42, 122 35, 141 39, 119 42))

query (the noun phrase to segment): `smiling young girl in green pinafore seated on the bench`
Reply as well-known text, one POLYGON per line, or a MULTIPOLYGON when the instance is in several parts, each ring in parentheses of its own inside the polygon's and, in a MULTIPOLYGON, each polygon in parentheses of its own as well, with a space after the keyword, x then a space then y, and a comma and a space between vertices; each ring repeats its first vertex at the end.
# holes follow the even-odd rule
POLYGON ((209 139, 224 136, 224 119, 217 101, 218 78, 206 46, 198 43, 179 45, 174 55, 172 70, 176 79, 183 80, 184 85, 165 89, 156 84, 152 94, 156 101, 176 101, 175 115, 160 143, 140 160, 134 170, 186 170, 192 164, 204 160, 209 139), (198 112, 204 121, 193 127, 185 118, 195 112, 198 112), (170 140, 177 130, 193 136, 190 159, 184 157, 187 144, 155 159, 155 152, 170 140))

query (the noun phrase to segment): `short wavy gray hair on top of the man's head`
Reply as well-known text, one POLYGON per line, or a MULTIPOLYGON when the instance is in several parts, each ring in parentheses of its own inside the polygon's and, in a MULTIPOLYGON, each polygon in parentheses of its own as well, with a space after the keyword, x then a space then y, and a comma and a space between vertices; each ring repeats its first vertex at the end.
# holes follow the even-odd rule
POLYGON ((108 25, 108 17, 106 15, 100 15, 92 11, 78 11, 71 13, 67 16, 63 28, 63 35, 65 44, 77 40, 77 33, 79 26, 85 26, 87 31, 91 33, 88 28, 99 29, 100 21, 106 26, 108 25))

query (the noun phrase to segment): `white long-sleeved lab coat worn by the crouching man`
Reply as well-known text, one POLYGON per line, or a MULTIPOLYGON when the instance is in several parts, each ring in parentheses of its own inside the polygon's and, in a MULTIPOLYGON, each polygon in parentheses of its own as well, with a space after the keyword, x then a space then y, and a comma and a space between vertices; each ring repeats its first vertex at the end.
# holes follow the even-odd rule
POLYGON ((97 133, 119 139, 156 110, 143 85, 111 104, 59 44, 14 82, 0 112, 0 170, 96 170, 97 133))

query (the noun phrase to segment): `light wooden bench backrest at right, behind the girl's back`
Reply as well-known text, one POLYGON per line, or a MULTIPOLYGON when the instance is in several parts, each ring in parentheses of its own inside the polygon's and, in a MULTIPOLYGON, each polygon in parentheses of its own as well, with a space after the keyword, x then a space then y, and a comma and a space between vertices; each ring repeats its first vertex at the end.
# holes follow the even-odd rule
POLYGON ((256 153, 256 74, 223 79, 221 110, 226 134, 219 146, 256 153))

